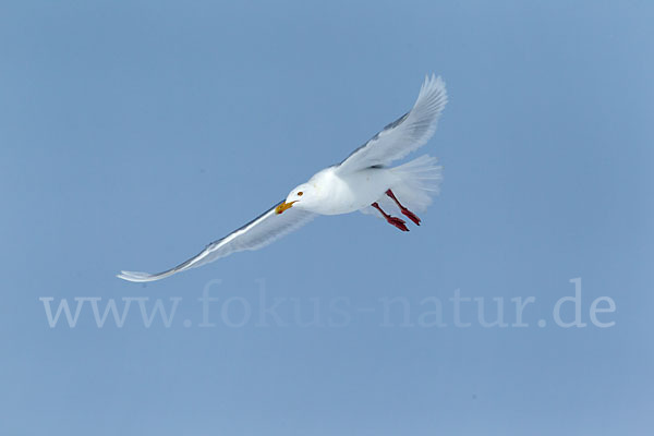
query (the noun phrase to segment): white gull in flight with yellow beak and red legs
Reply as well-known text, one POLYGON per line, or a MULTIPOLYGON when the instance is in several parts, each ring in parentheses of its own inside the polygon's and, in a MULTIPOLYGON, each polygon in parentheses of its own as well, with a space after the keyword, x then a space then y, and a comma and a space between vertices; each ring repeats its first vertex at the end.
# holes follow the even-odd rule
POLYGON ((173 268, 158 274, 123 270, 117 277, 134 282, 160 280, 232 253, 262 249, 319 215, 361 210, 376 214, 407 232, 407 221, 389 213, 397 208, 420 226, 422 220, 415 211, 424 210, 439 192, 441 167, 429 155, 396 167, 390 164, 427 143, 436 131, 447 100, 444 80, 434 74, 425 76, 410 111, 386 125, 340 164, 318 171, 307 182, 295 186, 284 199, 257 218, 211 242, 173 268))

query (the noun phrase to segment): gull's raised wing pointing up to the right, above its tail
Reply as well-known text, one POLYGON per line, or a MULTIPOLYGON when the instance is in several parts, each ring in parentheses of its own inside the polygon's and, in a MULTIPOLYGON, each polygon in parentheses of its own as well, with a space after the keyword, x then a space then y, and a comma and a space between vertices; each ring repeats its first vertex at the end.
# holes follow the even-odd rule
POLYGON ((340 162, 337 171, 347 173, 386 165, 425 145, 436 131, 436 122, 446 102, 447 92, 443 78, 427 76, 413 109, 352 152, 340 162))

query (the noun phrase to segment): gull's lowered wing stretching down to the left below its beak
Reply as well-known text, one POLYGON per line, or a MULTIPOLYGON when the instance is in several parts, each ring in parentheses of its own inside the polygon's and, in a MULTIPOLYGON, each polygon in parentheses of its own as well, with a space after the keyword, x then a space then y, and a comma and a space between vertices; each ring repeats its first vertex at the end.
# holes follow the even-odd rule
POLYGON ((227 237, 211 242, 199 254, 174 268, 159 274, 120 271, 117 277, 129 281, 160 280, 173 274, 208 264, 232 253, 245 250, 258 250, 284 234, 299 229, 315 217, 315 214, 311 211, 293 207, 287 209, 283 214, 277 214, 275 208, 281 203, 279 202, 258 218, 253 219, 227 237))

